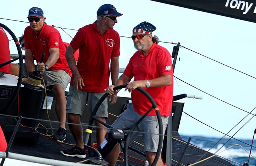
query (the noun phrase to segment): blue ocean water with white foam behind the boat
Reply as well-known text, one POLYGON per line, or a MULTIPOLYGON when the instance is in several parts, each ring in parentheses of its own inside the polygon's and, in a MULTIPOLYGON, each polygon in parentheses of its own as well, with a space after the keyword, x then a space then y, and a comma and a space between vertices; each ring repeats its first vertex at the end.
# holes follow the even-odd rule
MULTIPOLYGON (((187 136, 187 135, 181 135, 181 136, 182 136, 182 139, 184 139, 184 140, 188 140, 189 137, 191 137, 192 138, 190 140, 191 144, 201 147, 202 149, 205 149, 205 150, 209 150, 216 142, 218 142, 220 140, 220 138, 213 138, 213 137, 187 136)), ((227 142, 227 140, 228 140, 228 138, 224 138, 220 142, 225 143, 225 142, 227 142)), ((239 139, 239 140, 241 140, 242 142, 235 140, 235 139, 231 139, 223 147, 221 147, 223 144, 216 144, 210 150, 210 152, 215 153, 218 149, 221 148, 217 152, 217 154, 219 156, 231 159, 232 161, 235 161, 240 164, 244 164, 245 162, 248 162, 249 152, 251 149, 250 145, 252 144, 252 140, 249 140, 249 139, 248 140, 247 139, 239 139), (244 144, 243 142, 246 144, 244 144), (249 144, 249 145, 247 145, 247 144, 249 144), (235 145, 235 146, 233 146, 233 145, 235 145), (233 146, 233 147, 231 147, 231 146, 233 146), (231 147, 231 148, 228 149, 228 147, 231 147)), ((254 147, 252 148, 251 155, 253 155, 255 157, 256 156, 256 148, 255 148, 256 140, 255 139, 253 142, 253 146, 254 147)), ((232 164, 234 164, 235 166, 241 166, 240 164, 237 164, 232 161, 230 161, 230 162, 232 164)), ((249 160, 249 166, 256 166, 255 162, 256 162, 256 160, 251 156, 250 160, 249 160)))

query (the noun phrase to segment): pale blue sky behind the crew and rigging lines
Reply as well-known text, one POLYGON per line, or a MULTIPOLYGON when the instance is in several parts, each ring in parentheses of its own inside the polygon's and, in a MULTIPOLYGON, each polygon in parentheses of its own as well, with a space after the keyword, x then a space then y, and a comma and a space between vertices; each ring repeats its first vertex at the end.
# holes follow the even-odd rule
MULTIPOLYGON (((118 17, 114 29, 120 36, 131 36, 131 30, 140 22, 147 21, 157 27, 153 35, 160 41, 180 42, 182 46, 197 51, 228 66, 256 77, 256 24, 208 14, 191 9, 176 7, 149 0, 67 0, 56 1, 5 1, 0 6, 0 17, 19 21, 28 21, 31 7, 43 9, 48 25, 79 29, 96 20, 96 11, 104 3, 111 3, 123 16, 118 17)), ((224 3, 224 2, 223 2, 224 3)), ((0 19, 19 37, 29 23, 0 19)), ((58 28, 62 40, 70 42, 71 38, 58 28)), ((70 36, 76 31, 65 30, 70 36)), ((172 53, 172 44, 159 43, 172 53)), ((136 51, 130 38, 121 38, 121 56, 119 63, 125 68, 130 57, 136 51)), ((10 42, 10 52, 17 53, 14 43, 10 42)), ((224 67, 192 51, 180 48, 179 60, 176 62, 174 75, 209 94, 233 104, 243 110, 252 111, 256 107, 256 79, 224 67)), ((203 96, 202 100, 183 99, 184 110, 194 118, 220 130, 228 132, 244 116, 244 111, 229 106, 211 96, 174 79, 174 95, 194 94, 203 96)), ((252 112, 256 113, 256 110, 252 112)), ((249 115, 249 118, 252 116, 249 115)), ((242 121, 242 125, 249 120, 242 121)), ((245 125, 236 138, 252 139, 256 128, 254 117, 245 125)), ((229 135, 233 135, 241 125, 229 135)), ((185 135, 204 135, 222 137, 218 133, 189 116, 183 114, 180 133, 185 135)))

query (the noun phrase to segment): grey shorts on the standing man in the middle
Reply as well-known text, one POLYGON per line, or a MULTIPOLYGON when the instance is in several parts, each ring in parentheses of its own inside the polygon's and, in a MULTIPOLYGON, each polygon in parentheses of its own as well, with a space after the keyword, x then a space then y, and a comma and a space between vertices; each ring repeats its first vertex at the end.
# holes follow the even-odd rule
MULTIPOLYGON (((70 86, 67 94, 67 113, 79 114, 82 116, 86 105, 89 106, 90 112, 92 113, 93 108, 104 94, 105 93, 92 93, 76 90, 73 86, 70 86)), ((108 117, 107 98, 102 102, 95 116, 104 118, 108 117)))

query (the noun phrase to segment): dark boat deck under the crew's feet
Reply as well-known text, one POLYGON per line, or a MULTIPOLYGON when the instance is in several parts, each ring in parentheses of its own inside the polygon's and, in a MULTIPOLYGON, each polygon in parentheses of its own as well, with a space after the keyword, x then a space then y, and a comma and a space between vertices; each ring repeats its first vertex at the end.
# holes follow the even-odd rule
MULTIPOLYGON (((14 125, 1 125, 3 130, 5 131, 6 139, 8 140, 10 138, 10 135, 12 133, 12 130, 14 129, 14 125)), ((43 132, 44 129, 40 128, 43 132)), ((57 129, 55 129, 54 132, 56 132, 57 129)), ((178 137, 178 133, 174 133, 175 139, 172 140, 172 166, 177 166, 178 161, 180 160, 180 156, 182 155, 182 151, 186 145, 186 142, 182 140, 180 137, 178 137)), ((95 132, 92 134, 92 142, 95 142, 95 132)), ((143 138, 142 135, 139 135, 136 139, 137 142, 143 144, 143 138)), ((85 159, 81 159, 78 157, 68 157, 64 156, 60 153, 61 150, 65 148, 70 148, 72 145, 68 144, 75 144, 73 136, 71 135, 70 131, 67 131, 67 137, 64 141, 65 143, 57 143, 48 137, 40 136, 39 133, 31 130, 30 128, 23 128, 19 127, 16 139, 14 139, 14 144, 12 145, 10 152, 29 155, 29 156, 35 156, 35 157, 42 157, 47 159, 55 159, 55 160, 61 160, 61 161, 69 161, 69 162, 81 162, 86 159, 88 159, 88 153, 86 154, 85 159), (38 139, 38 140, 37 140, 38 139)), ((131 144, 132 147, 135 147, 137 149, 140 149, 143 151, 143 146, 139 145, 135 142, 131 144)), ((199 159, 202 154, 204 154, 206 151, 199 149, 198 147, 189 145, 187 147, 187 150, 185 152, 185 155, 182 159, 181 165, 187 166, 189 163, 195 163, 197 159, 199 159)), ((211 156, 213 154, 207 153, 206 156, 202 157, 202 159, 211 156)), ((124 166, 123 162, 123 155, 120 153, 119 159, 117 164, 120 166, 124 166)), ((141 166, 144 165, 145 157, 128 150, 128 163, 131 164, 131 166, 141 166)), ((83 162, 83 163, 86 163, 83 162)), ((212 157, 207 161, 207 163, 202 162, 199 164, 196 164, 198 166, 233 166, 233 164, 229 163, 228 161, 225 161, 224 159, 221 159, 220 157, 212 157)))

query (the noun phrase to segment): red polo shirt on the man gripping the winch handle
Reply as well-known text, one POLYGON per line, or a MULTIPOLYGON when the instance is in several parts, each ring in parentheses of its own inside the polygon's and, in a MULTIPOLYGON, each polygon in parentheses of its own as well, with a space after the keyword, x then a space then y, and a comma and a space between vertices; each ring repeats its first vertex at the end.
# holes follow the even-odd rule
POLYGON ((49 70, 64 70, 71 76, 71 70, 66 60, 66 48, 62 42, 61 34, 52 26, 43 24, 40 34, 37 36, 35 31, 30 26, 26 27, 24 31, 25 49, 31 49, 36 62, 40 62, 42 53, 45 53, 43 63, 47 61, 50 56, 50 48, 59 48, 59 59, 49 68, 49 70))

